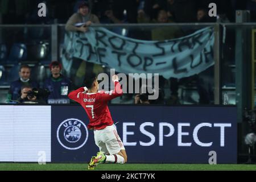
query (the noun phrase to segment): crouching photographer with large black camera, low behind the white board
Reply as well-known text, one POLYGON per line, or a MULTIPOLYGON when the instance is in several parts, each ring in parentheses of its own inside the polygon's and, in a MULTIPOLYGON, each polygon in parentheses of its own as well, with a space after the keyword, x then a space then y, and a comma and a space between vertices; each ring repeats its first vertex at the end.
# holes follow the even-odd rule
POLYGON ((31 88, 31 86, 23 86, 20 91, 19 103, 24 104, 46 104, 46 98, 49 95, 46 89, 31 88))

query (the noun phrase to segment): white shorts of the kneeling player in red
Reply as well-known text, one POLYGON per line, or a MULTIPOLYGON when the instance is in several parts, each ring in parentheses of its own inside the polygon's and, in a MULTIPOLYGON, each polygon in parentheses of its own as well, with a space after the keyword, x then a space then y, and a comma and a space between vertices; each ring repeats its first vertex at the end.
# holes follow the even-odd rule
POLYGON ((107 126, 102 130, 94 130, 94 140, 104 154, 113 155, 118 154, 120 150, 125 150, 115 125, 107 126))

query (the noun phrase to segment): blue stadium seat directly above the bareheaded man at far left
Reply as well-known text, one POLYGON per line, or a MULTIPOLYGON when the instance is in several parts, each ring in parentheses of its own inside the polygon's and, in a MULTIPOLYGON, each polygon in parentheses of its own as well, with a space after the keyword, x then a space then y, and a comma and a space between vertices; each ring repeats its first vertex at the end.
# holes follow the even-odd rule
POLYGON ((11 47, 8 64, 15 64, 27 59, 27 46, 22 43, 15 43, 11 47))

